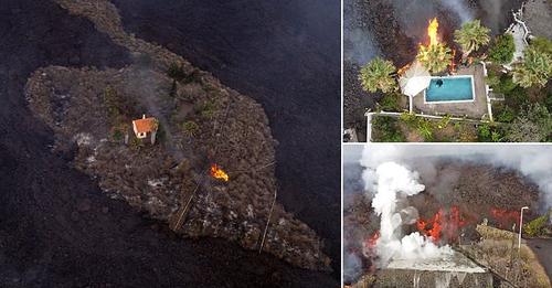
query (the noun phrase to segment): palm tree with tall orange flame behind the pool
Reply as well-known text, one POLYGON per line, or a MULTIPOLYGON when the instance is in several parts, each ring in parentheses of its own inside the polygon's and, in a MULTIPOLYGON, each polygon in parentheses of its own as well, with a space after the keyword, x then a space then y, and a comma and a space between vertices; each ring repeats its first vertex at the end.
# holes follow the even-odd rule
POLYGON ((453 61, 450 49, 444 43, 440 43, 437 38, 438 26, 439 23, 436 18, 429 21, 429 25, 427 26, 429 44, 427 46, 421 44, 420 52, 416 56, 416 60, 433 73, 445 71, 453 61))

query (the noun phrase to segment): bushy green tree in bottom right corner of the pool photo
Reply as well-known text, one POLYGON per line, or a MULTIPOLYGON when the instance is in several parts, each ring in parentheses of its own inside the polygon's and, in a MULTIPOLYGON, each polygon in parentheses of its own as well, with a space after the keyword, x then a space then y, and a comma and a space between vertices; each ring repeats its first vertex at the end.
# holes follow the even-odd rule
POLYGON ((506 139, 511 142, 541 142, 546 141, 551 132, 552 115, 546 107, 534 103, 522 107, 506 139))

